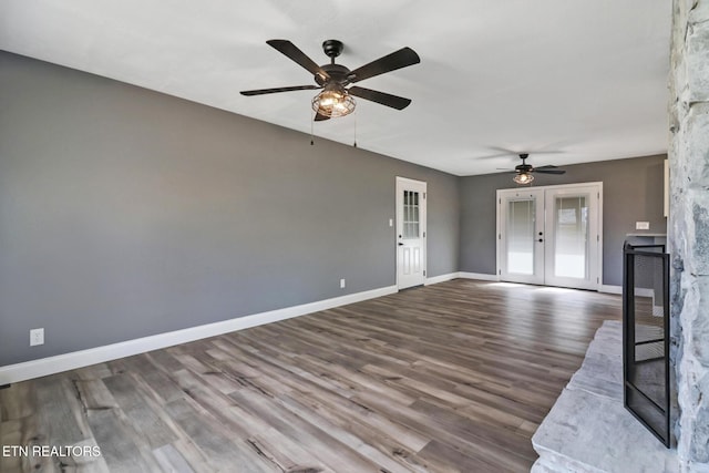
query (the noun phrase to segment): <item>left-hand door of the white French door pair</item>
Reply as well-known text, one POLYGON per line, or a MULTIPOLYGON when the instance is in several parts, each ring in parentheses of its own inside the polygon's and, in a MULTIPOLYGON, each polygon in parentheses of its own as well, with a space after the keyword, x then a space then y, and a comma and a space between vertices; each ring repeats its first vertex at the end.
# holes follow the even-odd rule
POLYGON ((499 191, 500 278, 544 284, 544 191, 499 191))

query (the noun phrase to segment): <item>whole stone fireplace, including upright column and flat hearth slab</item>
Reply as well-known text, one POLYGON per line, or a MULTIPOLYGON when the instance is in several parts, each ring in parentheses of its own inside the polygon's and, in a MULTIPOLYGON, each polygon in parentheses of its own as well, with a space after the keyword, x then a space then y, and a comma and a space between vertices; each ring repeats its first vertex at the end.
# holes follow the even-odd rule
POLYGON ((671 28, 667 250, 677 449, 627 421, 614 351, 620 328, 606 322, 533 438, 534 472, 709 473, 709 0, 672 0, 671 28))

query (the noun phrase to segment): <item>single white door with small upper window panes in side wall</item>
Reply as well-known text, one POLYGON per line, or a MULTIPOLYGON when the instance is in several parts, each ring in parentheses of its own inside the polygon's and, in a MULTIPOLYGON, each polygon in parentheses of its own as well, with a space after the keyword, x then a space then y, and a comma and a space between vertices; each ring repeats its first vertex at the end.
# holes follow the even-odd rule
POLYGON ((397 177, 397 286, 425 281, 427 183, 397 177))

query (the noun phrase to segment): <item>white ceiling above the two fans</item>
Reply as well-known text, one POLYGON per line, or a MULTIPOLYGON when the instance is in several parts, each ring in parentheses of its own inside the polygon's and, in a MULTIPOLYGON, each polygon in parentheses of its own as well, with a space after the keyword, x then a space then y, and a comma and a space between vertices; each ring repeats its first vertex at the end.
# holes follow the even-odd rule
POLYGON ((668 0, 3 0, 0 49, 310 133, 317 91, 266 44, 315 62, 326 39, 356 69, 402 47, 421 63, 358 85, 412 99, 364 100, 316 136, 456 175, 667 151, 668 0), (544 152, 553 152, 544 154, 544 152), (497 157, 491 157, 499 155, 497 157))

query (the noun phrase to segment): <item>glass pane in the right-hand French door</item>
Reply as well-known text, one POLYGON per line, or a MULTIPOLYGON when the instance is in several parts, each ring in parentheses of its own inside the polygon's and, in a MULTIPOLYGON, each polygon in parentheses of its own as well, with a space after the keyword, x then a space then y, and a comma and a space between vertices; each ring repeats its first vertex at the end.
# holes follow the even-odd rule
POLYGON ((588 271, 586 196, 556 197, 554 208, 554 275, 585 279, 588 271))

